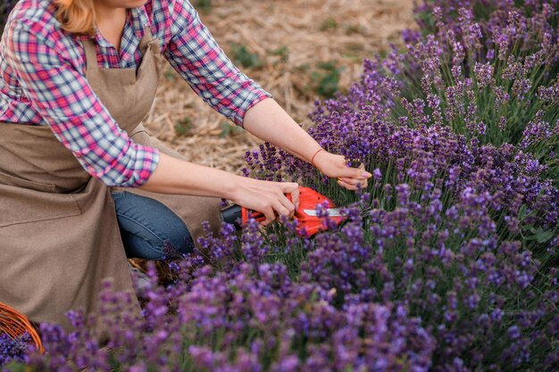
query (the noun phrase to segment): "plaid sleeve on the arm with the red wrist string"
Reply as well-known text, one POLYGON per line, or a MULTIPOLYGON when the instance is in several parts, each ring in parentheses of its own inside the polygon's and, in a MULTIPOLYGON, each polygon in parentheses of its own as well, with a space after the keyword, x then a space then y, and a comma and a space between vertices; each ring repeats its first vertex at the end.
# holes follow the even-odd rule
POLYGON ((242 126, 246 111, 271 95, 223 53, 187 0, 170 0, 171 40, 163 55, 206 103, 242 126))

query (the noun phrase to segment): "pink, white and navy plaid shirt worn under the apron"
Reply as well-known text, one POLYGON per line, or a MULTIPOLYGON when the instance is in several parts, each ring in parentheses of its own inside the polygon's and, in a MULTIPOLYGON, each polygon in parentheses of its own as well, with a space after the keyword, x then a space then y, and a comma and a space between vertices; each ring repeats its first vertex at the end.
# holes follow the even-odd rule
MULTIPOLYGON (((93 177, 109 186, 143 185, 159 152, 119 128, 85 78, 84 36, 61 30, 55 12, 51 0, 14 6, 0 43, 0 122, 48 125, 93 177)), ((96 30, 99 65, 137 68, 144 25, 196 94, 236 124, 270 96, 223 54, 188 0, 147 0, 130 9, 120 54, 96 30)))

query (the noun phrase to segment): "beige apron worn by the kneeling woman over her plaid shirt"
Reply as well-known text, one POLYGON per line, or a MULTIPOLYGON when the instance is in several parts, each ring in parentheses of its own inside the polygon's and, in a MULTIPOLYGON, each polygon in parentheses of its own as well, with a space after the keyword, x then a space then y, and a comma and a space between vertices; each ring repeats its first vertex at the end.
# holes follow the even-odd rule
MULTIPOLYGON (((86 77, 123 130, 139 144, 172 152, 138 125, 154 100, 159 78, 157 39, 149 29, 136 69, 99 69, 95 45, 84 41, 86 77)), ((220 226, 220 200, 143 194, 167 205, 196 241, 208 220, 220 226)), ((104 278, 132 292, 110 188, 91 178, 46 126, 0 123, 0 302, 34 321, 68 327, 71 309, 95 312, 104 278)))

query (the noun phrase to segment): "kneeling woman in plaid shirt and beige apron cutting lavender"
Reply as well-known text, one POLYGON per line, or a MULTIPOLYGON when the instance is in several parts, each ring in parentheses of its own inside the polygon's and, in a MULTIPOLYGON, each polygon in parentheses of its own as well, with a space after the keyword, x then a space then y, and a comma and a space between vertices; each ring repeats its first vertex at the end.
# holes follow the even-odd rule
POLYGON ((233 66, 187 0, 21 0, 0 45, 0 302, 65 325, 67 310, 96 311, 105 277, 130 291, 127 254, 189 252, 202 222, 216 231, 220 198, 264 224, 293 216, 295 183, 196 165, 146 134, 162 58, 217 111, 340 186, 371 177, 233 66))

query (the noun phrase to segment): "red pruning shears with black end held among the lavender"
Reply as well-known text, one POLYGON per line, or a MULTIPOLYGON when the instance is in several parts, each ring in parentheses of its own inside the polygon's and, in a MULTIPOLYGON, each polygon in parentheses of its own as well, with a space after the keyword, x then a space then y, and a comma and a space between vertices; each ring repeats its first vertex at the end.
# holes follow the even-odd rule
MULTIPOLYGON (((291 200, 288 194, 288 199, 291 200)), ((318 193, 310 187, 299 187, 299 207, 295 211, 294 219, 299 224, 296 232, 299 236, 314 236, 317 233, 328 229, 326 224, 326 215, 337 225, 346 220, 341 210, 336 208, 334 203, 326 196, 318 193), (317 211, 317 206, 323 207, 323 212, 317 211)), ((221 210, 221 217, 224 222, 235 225, 238 229, 246 224, 248 219, 253 218, 259 222, 263 222, 266 217, 262 212, 250 211, 238 204, 230 205, 221 210)))

